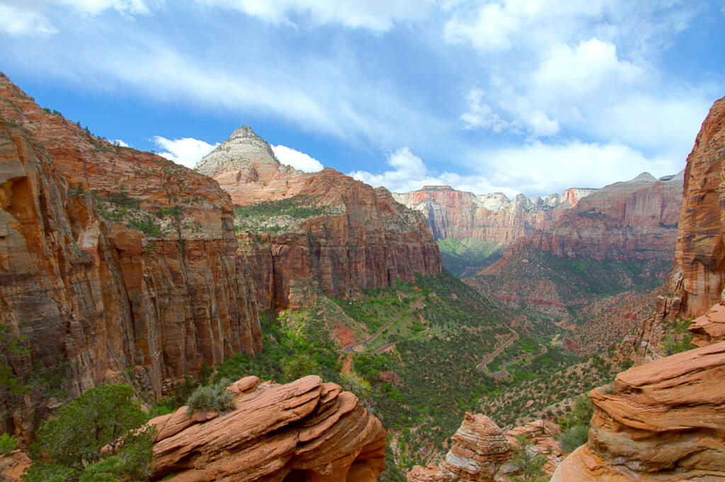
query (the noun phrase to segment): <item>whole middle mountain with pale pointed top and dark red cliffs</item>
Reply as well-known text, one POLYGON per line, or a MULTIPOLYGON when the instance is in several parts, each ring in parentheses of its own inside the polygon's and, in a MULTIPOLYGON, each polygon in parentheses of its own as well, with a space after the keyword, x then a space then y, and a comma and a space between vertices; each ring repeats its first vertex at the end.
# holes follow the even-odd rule
POLYGON ((260 307, 296 306, 295 283, 347 298, 364 288, 439 274, 438 246, 417 212, 332 169, 281 165, 251 128, 196 166, 231 194, 240 252, 254 265, 260 307))

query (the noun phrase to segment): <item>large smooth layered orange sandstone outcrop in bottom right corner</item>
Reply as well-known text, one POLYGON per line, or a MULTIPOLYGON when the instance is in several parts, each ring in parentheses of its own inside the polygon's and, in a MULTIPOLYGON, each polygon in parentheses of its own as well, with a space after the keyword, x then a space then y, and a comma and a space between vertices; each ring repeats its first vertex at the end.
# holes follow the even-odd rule
POLYGON ((589 442, 552 482, 725 479, 725 342, 617 375, 589 393, 589 442))

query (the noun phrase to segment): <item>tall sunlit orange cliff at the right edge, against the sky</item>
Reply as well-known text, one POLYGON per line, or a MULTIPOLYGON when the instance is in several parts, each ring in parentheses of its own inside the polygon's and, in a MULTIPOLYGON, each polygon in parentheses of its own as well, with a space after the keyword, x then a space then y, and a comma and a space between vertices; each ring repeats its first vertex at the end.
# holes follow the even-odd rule
POLYGON ((725 98, 713 104, 687 157, 675 252, 683 315, 702 315, 725 288, 725 98))

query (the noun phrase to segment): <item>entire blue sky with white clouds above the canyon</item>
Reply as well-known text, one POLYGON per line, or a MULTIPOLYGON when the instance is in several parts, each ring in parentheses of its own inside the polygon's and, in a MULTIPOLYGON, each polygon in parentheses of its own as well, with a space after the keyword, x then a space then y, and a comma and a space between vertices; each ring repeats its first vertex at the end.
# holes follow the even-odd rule
POLYGON ((723 25, 714 0, 0 0, 0 70, 188 167, 250 125, 298 169, 533 197, 682 170, 723 25))

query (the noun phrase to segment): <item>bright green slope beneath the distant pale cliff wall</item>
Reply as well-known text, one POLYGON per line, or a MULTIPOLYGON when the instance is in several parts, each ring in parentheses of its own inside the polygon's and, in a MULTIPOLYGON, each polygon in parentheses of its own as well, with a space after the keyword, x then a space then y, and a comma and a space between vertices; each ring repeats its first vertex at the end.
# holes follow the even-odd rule
POLYGON ((459 278, 473 275, 497 262, 505 247, 476 238, 458 241, 455 238, 437 239, 444 267, 459 278))

